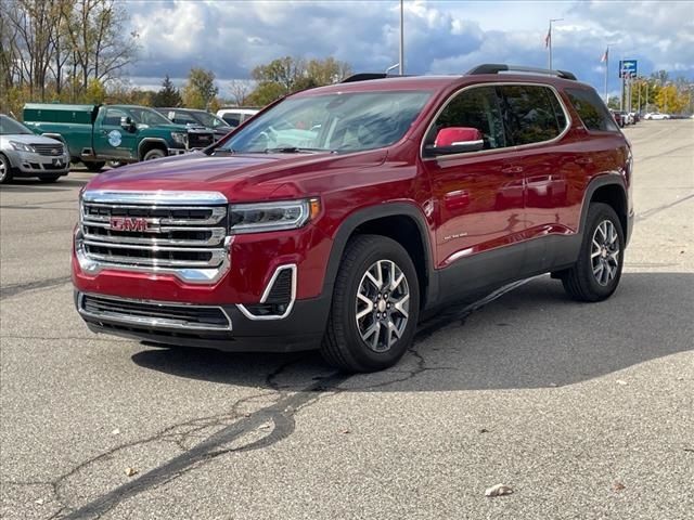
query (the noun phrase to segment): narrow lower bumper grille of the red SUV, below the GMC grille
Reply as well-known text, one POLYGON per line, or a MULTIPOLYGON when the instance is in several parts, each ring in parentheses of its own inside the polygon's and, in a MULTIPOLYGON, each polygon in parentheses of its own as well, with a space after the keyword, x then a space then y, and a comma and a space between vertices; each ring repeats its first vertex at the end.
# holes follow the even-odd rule
POLYGON ((198 307, 79 295, 79 312, 103 323, 190 330, 230 330, 231 320, 219 307, 198 307))

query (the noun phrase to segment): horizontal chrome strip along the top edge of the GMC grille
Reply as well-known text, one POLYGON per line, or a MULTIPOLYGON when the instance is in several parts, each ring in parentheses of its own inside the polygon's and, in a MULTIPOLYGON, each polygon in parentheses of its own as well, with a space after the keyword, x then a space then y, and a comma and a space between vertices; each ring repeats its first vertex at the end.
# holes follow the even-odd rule
MULTIPOLYGON (((154 206, 179 206, 191 204, 228 204, 227 197, 219 192, 180 192, 180 191, 137 191, 137 190, 88 190, 82 193, 85 203, 136 204, 154 206)), ((200 208, 192 208, 200 209, 200 208)))

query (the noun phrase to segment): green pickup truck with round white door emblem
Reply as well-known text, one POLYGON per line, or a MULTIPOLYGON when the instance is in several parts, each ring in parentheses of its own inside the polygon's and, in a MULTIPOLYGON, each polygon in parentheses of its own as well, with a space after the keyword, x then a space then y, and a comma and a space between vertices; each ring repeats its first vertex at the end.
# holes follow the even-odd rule
POLYGON ((73 162, 99 171, 118 164, 184 154, 214 143, 204 128, 174 125, 153 108, 132 105, 29 103, 24 123, 39 135, 63 141, 73 162))

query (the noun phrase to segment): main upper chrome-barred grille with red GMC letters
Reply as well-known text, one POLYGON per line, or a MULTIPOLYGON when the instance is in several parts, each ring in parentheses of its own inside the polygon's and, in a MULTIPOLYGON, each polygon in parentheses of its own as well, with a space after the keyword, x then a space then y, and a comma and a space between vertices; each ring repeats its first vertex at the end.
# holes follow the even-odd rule
MULTIPOLYGON (((116 192, 114 192, 116 193, 116 192)), ((88 195, 88 194, 87 194, 88 195)), ((227 206, 151 204, 137 196, 126 203, 86 196, 81 204, 79 246, 87 259, 139 271, 203 270, 228 264, 227 206)), ((214 274, 211 278, 214 278, 214 274)))

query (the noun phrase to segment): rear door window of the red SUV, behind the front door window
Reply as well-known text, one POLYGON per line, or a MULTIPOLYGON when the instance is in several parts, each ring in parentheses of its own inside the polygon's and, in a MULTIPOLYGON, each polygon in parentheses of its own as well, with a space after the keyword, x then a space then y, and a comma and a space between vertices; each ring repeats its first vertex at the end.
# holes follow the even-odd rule
POLYGON ((552 89, 507 84, 499 91, 506 130, 515 146, 550 141, 566 128, 566 116, 552 89))

